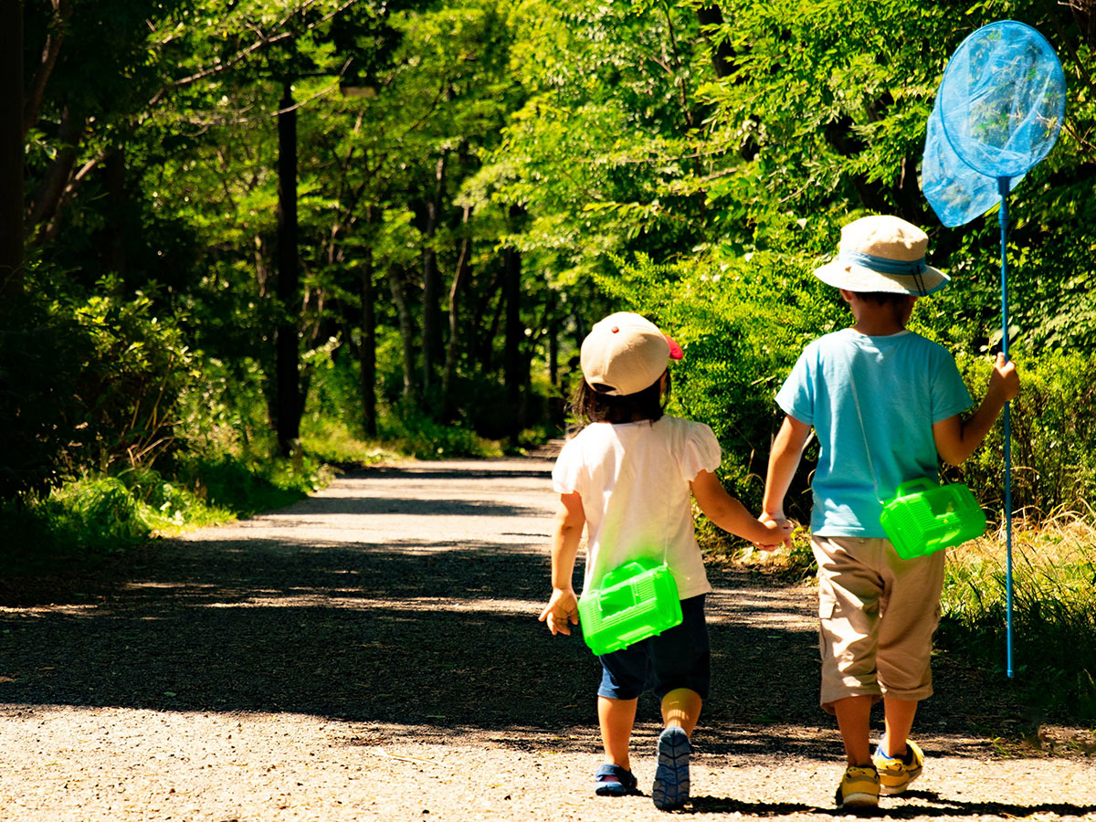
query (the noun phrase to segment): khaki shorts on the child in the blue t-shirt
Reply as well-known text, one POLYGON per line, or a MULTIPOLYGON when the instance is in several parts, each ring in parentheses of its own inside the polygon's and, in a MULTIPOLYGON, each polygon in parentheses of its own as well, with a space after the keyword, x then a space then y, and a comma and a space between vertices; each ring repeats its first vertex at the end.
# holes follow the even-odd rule
POLYGON ((850 696, 920 700, 940 620, 945 551, 900 559, 890 540, 812 537, 819 564, 822 708, 850 696))

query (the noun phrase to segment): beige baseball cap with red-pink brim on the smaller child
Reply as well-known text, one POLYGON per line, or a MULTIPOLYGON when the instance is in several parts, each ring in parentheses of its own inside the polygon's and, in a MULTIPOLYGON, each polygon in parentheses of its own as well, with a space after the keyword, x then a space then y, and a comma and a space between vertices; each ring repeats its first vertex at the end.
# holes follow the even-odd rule
POLYGON ((683 356, 682 347, 653 322, 619 311, 601 320, 582 341, 582 376, 600 393, 627 397, 654 385, 670 359, 683 356))

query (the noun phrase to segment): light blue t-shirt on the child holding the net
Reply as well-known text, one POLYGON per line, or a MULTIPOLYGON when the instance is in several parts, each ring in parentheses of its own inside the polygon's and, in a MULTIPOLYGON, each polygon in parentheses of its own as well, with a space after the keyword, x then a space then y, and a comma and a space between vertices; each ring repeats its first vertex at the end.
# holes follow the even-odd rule
POLYGON ((846 537, 886 536, 879 500, 906 480, 938 478, 933 423, 972 404, 944 346, 912 331, 867 336, 853 329, 810 343, 776 402, 819 437, 811 533, 846 537))

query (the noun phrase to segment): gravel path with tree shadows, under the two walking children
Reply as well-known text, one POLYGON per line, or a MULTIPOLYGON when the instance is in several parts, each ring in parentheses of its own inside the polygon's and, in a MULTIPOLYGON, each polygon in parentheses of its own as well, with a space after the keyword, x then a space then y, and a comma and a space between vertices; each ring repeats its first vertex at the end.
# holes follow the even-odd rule
MULTIPOLYGON (((0 821, 664 819, 591 790, 597 663, 536 621, 549 469, 373 469, 83 578, 0 586, 0 821)), ((710 576, 712 698, 684 812, 838 815, 810 586, 710 576)), ((1032 745, 1069 752, 1077 729, 1040 728, 961 660, 936 670, 925 775, 881 813, 1096 819, 1092 751, 985 739, 1035 722, 1032 745)), ((644 791, 657 722, 641 700, 644 791)))

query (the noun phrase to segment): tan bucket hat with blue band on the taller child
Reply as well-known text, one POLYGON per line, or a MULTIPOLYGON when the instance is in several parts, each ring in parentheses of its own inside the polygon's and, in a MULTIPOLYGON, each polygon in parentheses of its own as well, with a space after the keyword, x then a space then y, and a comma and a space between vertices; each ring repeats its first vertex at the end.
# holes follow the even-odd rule
POLYGON ((827 285, 849 292, 925 295, 949 282, 925 264, 928 235, 900 217, 861 217, 841 229, 837 256, 814 270, 827 285))

